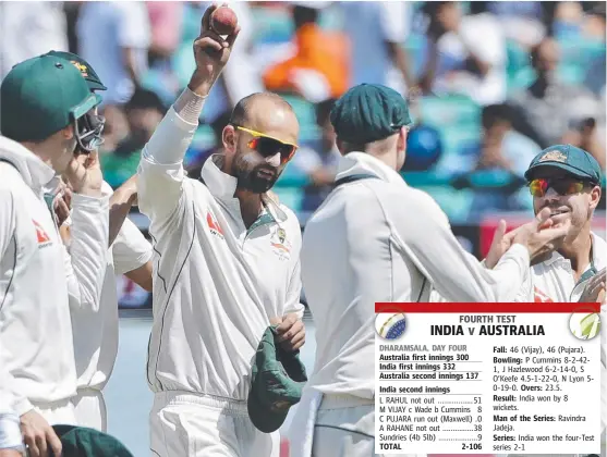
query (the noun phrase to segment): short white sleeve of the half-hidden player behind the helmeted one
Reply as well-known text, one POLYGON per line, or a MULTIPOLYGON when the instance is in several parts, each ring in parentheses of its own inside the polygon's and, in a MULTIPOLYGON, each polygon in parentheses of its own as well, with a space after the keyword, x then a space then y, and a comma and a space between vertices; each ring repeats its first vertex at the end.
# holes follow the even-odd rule
POLYGON ((117 274, 136 270, 151 259, 151 245, 129 218, 113 242, 112 256, 117 274))

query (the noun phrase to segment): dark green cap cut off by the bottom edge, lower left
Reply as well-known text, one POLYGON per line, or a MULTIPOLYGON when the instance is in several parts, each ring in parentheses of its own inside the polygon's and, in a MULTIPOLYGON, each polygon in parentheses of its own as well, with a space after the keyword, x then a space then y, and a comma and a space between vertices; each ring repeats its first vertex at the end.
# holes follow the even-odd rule
POLYGON ((52 425, 61 440, 61 457, 133 457, 124 445, 107 433, 74 425, 52 425))

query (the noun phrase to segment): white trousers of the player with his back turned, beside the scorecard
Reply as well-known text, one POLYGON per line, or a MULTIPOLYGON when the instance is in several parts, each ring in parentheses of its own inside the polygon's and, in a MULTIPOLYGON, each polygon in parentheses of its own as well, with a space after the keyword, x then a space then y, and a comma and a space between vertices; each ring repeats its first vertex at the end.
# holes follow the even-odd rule
MULTIPOLYGON (((347 406, 349 402, 345 397, 336 395, 323 398, 314 425, 312 457, 383 456, 375 454, 375 405, 347 406)), ((390 454, 394 455, 415 456, 390 454)))

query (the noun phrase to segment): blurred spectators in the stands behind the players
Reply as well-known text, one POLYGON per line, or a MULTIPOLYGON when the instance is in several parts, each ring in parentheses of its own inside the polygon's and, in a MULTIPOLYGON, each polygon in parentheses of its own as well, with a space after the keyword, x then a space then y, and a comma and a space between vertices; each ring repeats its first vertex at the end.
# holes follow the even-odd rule
MULTIPOLYGON (((0 2, 0 76, 70 50, 108 90, 101 163, 120 186, 187 83, 208 2, 0 2)), ((605 169, 605 2, 231 2, 242 32, 186 155, 193 176, 221 149, 235 100, 283 95, 302 126, 277 184, 302 225, 330 192, 339 152, 333 100, 361 83, 410 100, 402 170, 452 221, 531 208, 523 171, 553 144, 605 169)), ((602 208, 605 203, 602 203, 602 208)))

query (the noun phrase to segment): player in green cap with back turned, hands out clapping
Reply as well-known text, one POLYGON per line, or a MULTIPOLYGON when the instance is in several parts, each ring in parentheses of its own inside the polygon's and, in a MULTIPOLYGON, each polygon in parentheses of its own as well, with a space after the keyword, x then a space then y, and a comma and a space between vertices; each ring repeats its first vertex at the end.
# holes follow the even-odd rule
POLYGON ((411 123, 405 100, 380 85, 340 98, 331 124, 342 153, 336 188, 306 224, 302 281, 316 323, 316 361, 291 427, 293 457, 374 454, 376 301, 512 300, 530 256, 566 227, 519 232, 495 270, 451 233, 446 214, 398 171, 411 123))

